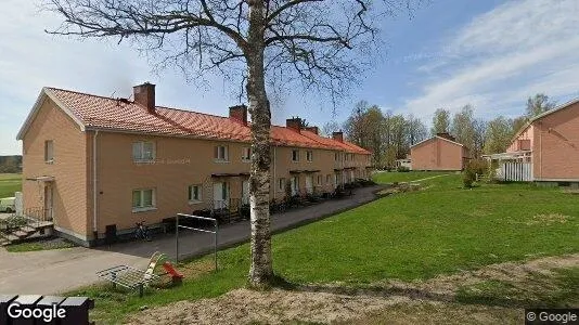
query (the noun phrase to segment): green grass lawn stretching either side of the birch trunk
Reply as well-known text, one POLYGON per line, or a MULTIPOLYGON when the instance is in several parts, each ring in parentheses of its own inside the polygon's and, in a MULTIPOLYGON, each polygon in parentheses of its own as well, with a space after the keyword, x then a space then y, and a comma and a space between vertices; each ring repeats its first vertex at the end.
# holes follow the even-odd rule
MULTIPOLYGON (((390 182, 383 177, 378 181, 390 182)), ((427 190, 384 197, 273 236, 276 273, 299 284, 364 286, 579 251, 577 195, 526 184, 463 190, 460 174, 423 184, 427 190)), ((118 321, 142 306, 215 297, 243 286, 248 255, 248 245, 224 250, 219 253, 219 272, 200 271, 181 287, 151 289, 142 299, 108 286, 74 294, 97 299, 97 323, 118 321)), ((208 257, 181 268, 207 270, 207 263, 208 257)))

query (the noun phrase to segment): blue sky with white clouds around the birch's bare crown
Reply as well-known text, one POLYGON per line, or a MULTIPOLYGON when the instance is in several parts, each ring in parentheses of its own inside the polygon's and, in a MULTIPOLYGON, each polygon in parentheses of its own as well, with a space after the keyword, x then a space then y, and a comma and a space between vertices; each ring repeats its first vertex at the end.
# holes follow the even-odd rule
MULTIPOLYGON (((43 86, 129 96, 132 86, 151 81, 158 104, 217 115, 237 102, 231 84, 214 76, 192 83, 178 70, 152 73, 128 44, 43 32, 59 23, 34 1, 2 1, 0 155, 22 152, 15 136, 43 86)), ((558 103, 579 96, 579 1, 430 0, 411 20, 381 25, 383 60, 340 103, 339 122, 360 100, 429 125, 438 107, 472 104, 491 119, 522 114, 537 92, 558 103)), ((322 126, 331 112, 330 104, 312 109, 309 95, 296 92, 275 105, 273 121, 298 115, 322 126)))

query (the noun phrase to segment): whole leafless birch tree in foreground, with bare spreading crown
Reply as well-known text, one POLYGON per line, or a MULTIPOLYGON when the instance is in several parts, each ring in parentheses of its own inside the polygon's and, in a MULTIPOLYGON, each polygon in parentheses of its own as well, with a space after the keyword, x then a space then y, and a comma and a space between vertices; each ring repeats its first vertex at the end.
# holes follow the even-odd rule
MULTIPOLYGON (((360 76, 381 22, 370 0, 44 0, 59 35, 130 40, 190 75, 241 77, 252 116, 249 284, 273 278, 269 218, 271 112, 266 83, 297 81, 333 100, 360 76), (373 14, 374 13, 374 14, 373 14), (360 49, 360 51, 352 51, 360 49), (361 56, 364 55, 364 56, 361 56)), ((383 1, 382 13, 412 6, 383 1)), ((237 80, 240 81, 240 80, 237 80)))

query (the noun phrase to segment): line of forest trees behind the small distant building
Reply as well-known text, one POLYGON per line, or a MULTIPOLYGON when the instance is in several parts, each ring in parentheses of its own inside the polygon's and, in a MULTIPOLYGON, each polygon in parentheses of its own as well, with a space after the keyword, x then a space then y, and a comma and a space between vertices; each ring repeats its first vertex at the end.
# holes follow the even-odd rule
POLYGON ((475 107, 469 104, 454 114, 438 108, 432 125, 427 127, 412 114, 382 112, 377 105, 361 101, 343 125, 327 122, 322 132, 330 135, 332 130, 343 129, 349 141, 374 153, 374 166, 394 167, 396 159, 406 158, 410 154, 412 145, 437 133, 450 133, 456 142, 468 147, 476 158, 484 154, 504 152, 525 123, 554 107, 555 102, 539 93, 528 98, 525 114, 514 118, 503 115, 491 120, 477 118, 474 115, 475 107))

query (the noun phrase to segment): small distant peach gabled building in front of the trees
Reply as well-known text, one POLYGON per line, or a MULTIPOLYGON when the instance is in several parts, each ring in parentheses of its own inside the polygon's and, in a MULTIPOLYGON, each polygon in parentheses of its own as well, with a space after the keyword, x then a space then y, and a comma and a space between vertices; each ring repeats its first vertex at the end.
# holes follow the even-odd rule
POLYGON ((412 170, 463 170, 471 158, 467 147, 448 133, 419 142, 410 147, 412 170))

